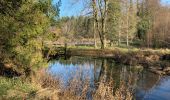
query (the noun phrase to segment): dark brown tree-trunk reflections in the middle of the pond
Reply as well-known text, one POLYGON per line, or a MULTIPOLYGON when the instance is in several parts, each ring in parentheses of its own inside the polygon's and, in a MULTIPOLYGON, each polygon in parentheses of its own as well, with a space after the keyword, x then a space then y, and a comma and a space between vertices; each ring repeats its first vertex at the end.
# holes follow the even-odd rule
POLYGON ((116 91, 122 82, 125 84, 125 87, 132 90, 137 85, 138 72, 132 72, 130 66, 117 65, 112 60, 102 59, 98 80, 98 83, 109 83, 112 81, 113 91, 116 91))

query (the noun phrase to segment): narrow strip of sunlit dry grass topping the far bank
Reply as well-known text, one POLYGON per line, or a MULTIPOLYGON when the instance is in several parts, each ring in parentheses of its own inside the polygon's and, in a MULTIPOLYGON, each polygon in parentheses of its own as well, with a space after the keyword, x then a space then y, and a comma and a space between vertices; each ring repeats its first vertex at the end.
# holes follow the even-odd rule
POLYGON ((109 49, 93 49, 93 48, 68 48, 67 54, 71 56, 91 56, 102 58, 113 58, 117 54, 142 53, 144 55, 166 55, 170 54, 170 49, 138 49, 138 48, 109 48, 109 49))

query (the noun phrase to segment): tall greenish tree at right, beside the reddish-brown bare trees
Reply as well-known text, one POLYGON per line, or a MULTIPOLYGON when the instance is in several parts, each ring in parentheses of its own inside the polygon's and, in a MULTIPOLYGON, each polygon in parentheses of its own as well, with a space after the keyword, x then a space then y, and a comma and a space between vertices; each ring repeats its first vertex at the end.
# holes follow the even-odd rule
POLYGON ((148 47, 151 45, 158 47, 159 34, 155 30, 159 29, 156 19, 157 14, 161 8, 159 0, 142 0, 140 7, 138 7, 138 16, 140 21, 138 23, 138 37, 143 40, 148 47))

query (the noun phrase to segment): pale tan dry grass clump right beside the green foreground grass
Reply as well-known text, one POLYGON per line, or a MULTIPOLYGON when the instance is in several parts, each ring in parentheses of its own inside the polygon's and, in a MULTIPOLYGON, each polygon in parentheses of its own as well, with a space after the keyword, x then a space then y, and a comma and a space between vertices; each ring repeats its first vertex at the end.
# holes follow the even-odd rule
POLYGON ((31 83, 40 87, 33 100, 59 100, 59 81, 46 73, 45 70, 38 71, 37 74, 32 77, 31 83))

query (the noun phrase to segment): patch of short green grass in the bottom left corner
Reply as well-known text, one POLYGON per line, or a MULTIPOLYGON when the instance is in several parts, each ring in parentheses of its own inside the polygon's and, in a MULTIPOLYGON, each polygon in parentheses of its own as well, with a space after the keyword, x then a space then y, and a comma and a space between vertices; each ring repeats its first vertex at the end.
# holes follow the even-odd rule
POLYGON ((0 99, 23 100, 36 93, 37 87, 20 78, 0 77, 0 99))

